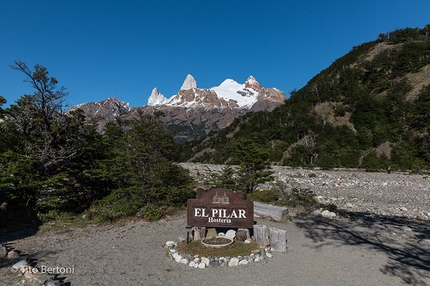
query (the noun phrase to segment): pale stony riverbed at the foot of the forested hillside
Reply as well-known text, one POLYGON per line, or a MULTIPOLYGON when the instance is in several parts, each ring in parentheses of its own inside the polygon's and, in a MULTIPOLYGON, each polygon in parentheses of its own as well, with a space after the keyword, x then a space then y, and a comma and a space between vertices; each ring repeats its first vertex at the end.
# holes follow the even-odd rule
MULTIPOLYGON (((221 165, 184 163, 193 177, 204 182, 208 168, 221 165)), ((430 219, 430 176, 399 172, 368 173, 360 170, 324 171, 272 167, 274 180, 262 189, 309 189, 323 203, 340 210, 379 216, 430 219)))

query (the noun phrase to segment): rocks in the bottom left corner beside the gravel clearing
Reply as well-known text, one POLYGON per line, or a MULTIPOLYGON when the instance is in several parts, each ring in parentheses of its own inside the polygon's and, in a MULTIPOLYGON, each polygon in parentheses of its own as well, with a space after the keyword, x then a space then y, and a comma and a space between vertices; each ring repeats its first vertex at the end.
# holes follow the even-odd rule
POLYGON ((19 277, 16 285, 37 285, 37 286, 59 286, 59 280, 55 280, 52 275, 41 272, 36 266, 31 266, 27 256, 20 256, 13 249, 8 249, 0 244, 0 260, 11 265, 11 272, 19 277))

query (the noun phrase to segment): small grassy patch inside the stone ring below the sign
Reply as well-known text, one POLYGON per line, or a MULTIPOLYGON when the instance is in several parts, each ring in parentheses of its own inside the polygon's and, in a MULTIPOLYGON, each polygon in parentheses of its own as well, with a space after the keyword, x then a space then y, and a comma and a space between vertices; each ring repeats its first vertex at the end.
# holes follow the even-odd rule
POLYGON ((199 255, 203 257, 233 257, 250 255, 252 252, 260 251, 260 247, 255 243, 255 241, 251 241, 251 243, 235 241, 233 244, 219 248, 204 246, 200 241, 192 241, 190 243, 183 241, 176 246, 176 251, 179 253, 199 255))

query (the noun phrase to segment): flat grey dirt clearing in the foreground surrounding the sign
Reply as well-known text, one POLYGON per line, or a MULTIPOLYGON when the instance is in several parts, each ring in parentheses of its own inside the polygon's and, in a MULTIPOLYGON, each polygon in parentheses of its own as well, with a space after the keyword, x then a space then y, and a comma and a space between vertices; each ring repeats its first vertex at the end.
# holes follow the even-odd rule
MULTIPOLYGON (((430 285, 430 248, 419 244, 428 225, 313 217, 258 223, 287 230, 288 250, 238 267, 169 261, 163 246, 185 236, 185 216, 36 234, 8 246, 39 268, 72 268, 58 276, 65 285, 430 285)), ((0 268, 0 284, 16 284, 9 272, 0 268)))

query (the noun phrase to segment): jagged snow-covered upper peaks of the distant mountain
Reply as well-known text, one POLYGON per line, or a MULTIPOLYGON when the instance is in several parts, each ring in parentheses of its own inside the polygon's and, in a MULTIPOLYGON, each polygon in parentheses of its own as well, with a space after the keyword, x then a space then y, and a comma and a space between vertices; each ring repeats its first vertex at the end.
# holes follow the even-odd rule
POLYGON ((251 109, 259 100, 270 100, 273 103, 283 103, 285 95, 278 89, 263 88, 253 77, 240 84, 233 79, 226 79, 219 86, 207 89, 197 88, 197 82, 192 75, 187 75, 179 92, 167 99, 160 97, 158 90, 152 92, 148 99, 149 106, 171 107, 205 107, 205 108, 241 108, 251 109), (270 92, 268 92, 270 90, 270 92), (271 94, 270 97, 261 94, 271 94))

